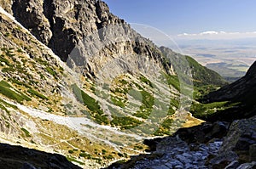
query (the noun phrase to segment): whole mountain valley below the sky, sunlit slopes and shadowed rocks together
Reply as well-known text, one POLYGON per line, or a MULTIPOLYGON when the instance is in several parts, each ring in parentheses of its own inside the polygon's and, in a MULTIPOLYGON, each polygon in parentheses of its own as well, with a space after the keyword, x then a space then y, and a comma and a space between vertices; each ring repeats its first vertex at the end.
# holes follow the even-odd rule
POLYGON ((255 63, 229 84, 98 0, 0 5, 1 168, 160 168, 174 144, 208 149, 194 166, 255 167, 255 63), (218 161, 224 149, 236 158, 218 161))

